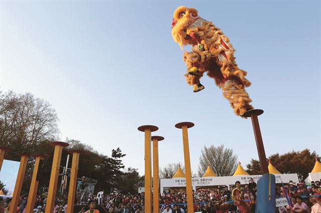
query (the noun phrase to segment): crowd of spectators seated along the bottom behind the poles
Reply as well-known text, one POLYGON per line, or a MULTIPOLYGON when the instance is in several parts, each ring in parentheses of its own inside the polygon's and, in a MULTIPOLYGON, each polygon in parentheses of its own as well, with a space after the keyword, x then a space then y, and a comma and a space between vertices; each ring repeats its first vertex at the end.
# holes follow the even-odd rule
MULTIPOLYGON (((234 186, 219 186, 216 188, 201 188, 193 190, 194 211, 206 213, 214 212, 240 212, 236 203, 232 200, 231 193, 234 186)), ((255 212, 256 207, 256 183, 253 179, 243 185, 244 200, 251 212, 255 212)), ((275 188, 276 197, 290 197, 292 204, 280 206, 278 212, 321 212, 321 188, 320 181, 311 182, 306 185, 304 181, 294 184, 290 181, 286 185, 278 185, 275 188), (319 197, 320 196, 320 197, 319 197)), ((34 212, 45 212, 47 202, 47 192, 37 195, 34 212)), ((80 192, 76 194, 75 204, 81 204, 80 192)), ((88 200, 94 199, 94 194, 88 194, 88 200)), ((56 198, 56 207, 54 213, 65 212, 68 193, 58 195, 56 198)), ((144 193, 121 194, 104 193, 100 202, 109 213, 148 213, 144 206, 144 193)), ((19 210, 24 213, 27 203, 27 197, 21 197, 19 210)), ((3 201, 5 209, 10 207, 10 199, 3 201)), ((187 212, 187 194, 184 190, 172 190, 159 194, 159 208, 163 213, 185 213, 187 212)), ((88 207, 84 207, 80 212, 85 212, 88 207)), ((6 211, 5 211, 6 212, 6 211)))

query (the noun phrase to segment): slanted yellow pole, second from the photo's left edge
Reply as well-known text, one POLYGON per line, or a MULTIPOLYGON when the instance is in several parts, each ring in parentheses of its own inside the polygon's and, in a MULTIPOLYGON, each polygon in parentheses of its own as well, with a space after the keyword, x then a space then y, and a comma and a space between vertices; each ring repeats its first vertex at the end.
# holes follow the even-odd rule
POLYGON ((27 162, 29 157, 28 154, 20 154, 20 155, 21 155, 21 160, 20 160, 16 185, 15 185, 14 194, 11 200, 9 213, 17 212, 17 207, 20 201, 21 188, 24 182, 24 177, 25 177, 25 172, 26 172, 26 167, 27 167, 27 162))

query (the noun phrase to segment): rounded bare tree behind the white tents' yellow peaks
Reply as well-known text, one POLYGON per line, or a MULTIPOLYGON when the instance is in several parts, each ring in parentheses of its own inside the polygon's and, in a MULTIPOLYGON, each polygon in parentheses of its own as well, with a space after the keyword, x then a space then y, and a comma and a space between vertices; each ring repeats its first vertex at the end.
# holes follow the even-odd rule
POLYGON ((204 145, 199 159, 199 176, 203 176, 209 165, 218 176, 230 176, 237 167, 237 155, 233 149, 224 148, 223 144, 217 147, 204 145))

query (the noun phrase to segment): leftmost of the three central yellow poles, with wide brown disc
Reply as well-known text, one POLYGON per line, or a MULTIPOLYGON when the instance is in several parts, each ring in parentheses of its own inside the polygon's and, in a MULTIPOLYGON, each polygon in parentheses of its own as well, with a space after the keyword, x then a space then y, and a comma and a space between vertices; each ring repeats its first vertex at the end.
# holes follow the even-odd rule
POLYGON ((158 130, 154 125, 142 125, 139 131, 145 132, 145 212, 151 212, 151 160, 150 160, 150 141, 151 132, 158 130))

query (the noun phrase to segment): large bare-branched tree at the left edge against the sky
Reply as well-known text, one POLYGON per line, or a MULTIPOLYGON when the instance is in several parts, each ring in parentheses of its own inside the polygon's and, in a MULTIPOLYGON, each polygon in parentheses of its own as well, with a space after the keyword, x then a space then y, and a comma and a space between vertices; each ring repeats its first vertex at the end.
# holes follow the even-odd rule
POLYGON ((53 140, 59 132, 56 110, 31 93, 0 91, 0 144, 11 153, 33 151, 39 142, 53 140))

